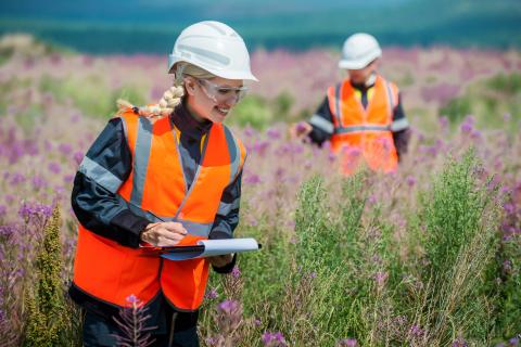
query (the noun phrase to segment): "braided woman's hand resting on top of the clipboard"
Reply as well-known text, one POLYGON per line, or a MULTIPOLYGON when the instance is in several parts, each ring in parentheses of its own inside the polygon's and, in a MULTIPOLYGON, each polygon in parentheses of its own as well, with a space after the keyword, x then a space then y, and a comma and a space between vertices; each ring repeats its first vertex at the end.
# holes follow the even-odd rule
POLYGON ((156 247, 168 247, 175 246, 187 233, 187 229, 179 222, 150 223, 141 233, 141 241, 156 247))

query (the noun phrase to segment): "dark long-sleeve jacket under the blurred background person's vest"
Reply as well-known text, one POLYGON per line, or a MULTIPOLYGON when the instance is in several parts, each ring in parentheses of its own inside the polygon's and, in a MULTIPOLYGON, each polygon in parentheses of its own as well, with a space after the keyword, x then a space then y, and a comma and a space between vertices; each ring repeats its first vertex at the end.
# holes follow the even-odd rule
MULTIPOLYGON (((367 108, 369 103, 368 94, 374 85, 370 83, 369 86, 365 86, 352 83, 352 86, 360 92, 360 102, 364 107, 367 108)), ((308 123, 313 127, 313 131, 308 136, 312 142, 321 145, 323 142, 331 139, 334 128, 333 114, 329 107, 328 97, 323 99, 322 103, 308 123)), ((402 155, 407 153, 407 145, 410 138, 407 118, 405 117, 404 108, 402 106, 402 94, 398 94, 398 102, 394 107, 391 131, 393 132, 396 154, 399 158, 402 155)))

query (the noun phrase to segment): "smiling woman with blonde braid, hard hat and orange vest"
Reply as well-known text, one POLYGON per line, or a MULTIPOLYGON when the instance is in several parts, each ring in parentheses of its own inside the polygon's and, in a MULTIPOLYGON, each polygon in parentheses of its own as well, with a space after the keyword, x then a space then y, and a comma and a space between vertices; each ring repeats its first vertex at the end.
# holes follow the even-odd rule
MULTIPOLYGON (((85 308, 85 346, 128 342, 122 308, 142 305, 154 346, 199 346, 198 312, 208 262, 231 271, 231 255, 183 261, 161 247, 229 239, 239 221, 245 150, 221 123, 256 80, 242 38, 219 22, 187 27, 168 57, 175 75, 157 105, 119 101, 74 181, 79 221, 72 298, 85 308)), ((144 340, 144 339, 143 339, 144 340)))

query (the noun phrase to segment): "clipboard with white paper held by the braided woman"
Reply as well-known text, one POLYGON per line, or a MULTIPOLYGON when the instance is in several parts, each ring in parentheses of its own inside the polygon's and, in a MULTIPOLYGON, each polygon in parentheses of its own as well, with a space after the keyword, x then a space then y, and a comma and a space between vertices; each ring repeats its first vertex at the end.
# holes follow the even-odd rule
POLYGON ((169 260, 187 260, 259 248, 255 239, 200 240, 195 245, 168 247, 161 256, 169 260))

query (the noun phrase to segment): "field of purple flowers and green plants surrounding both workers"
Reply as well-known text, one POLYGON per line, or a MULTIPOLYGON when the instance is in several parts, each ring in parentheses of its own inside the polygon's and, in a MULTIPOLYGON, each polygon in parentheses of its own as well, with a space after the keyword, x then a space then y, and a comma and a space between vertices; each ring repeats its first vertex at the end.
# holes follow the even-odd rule
MULTIPOLYGON (((166 59, 25 36, 2 38, 0 54, 0 345, 80 346, 66 295, 74 175, 116 99, 156 102, 169 87, 166 59)), ((260 81, 227 123, 249 150, 236 235, 263 248, 211 275, 202 345, 518 346, 521 54, 384 50, 408 153, 395 174, 347 179, 328 145, 288 136, 341 80, 338 56, 253 54, 260 81)))

